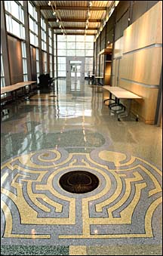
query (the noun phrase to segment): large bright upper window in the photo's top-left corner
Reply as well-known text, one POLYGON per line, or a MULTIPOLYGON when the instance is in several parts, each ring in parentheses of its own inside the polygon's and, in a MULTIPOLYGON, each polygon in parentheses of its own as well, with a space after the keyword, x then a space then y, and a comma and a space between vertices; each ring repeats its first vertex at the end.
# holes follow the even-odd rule
POLYGON ((7 31, 25 39, 23 1, 5 1, 7 31))

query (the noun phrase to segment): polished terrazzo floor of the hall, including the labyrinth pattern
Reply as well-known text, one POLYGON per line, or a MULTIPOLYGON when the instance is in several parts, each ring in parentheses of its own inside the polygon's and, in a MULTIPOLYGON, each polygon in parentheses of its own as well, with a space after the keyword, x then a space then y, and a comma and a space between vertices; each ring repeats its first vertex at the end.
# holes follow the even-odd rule
POLYGON ((161 128, 117 121, 103 88, 60 79, 2 116, 3 255, 161 255, 161 128), (69 171, 100 180, 83 194, 69 171))

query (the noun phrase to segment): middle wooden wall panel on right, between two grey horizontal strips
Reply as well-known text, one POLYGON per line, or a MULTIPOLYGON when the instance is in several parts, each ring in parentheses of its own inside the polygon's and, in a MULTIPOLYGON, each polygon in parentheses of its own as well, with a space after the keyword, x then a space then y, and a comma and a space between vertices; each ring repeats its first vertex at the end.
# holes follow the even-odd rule
POLYGON ((123 55, 120 77, 147 85, 159 85, 162 48, 153 47, 123 55))

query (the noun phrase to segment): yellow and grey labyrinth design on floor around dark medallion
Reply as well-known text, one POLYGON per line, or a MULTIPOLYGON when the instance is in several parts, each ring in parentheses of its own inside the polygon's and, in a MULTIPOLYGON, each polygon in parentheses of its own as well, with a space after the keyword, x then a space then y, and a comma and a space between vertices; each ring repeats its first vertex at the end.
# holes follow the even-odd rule
POLYGON ((161 171, 124 153, 62 147, 14 157, 2 165, 2 242, 28 245, 108 245, 121 240, 159 241, 161 171), (68 171, 89 171, 94 191, 73 194, 60 187, 68 171))

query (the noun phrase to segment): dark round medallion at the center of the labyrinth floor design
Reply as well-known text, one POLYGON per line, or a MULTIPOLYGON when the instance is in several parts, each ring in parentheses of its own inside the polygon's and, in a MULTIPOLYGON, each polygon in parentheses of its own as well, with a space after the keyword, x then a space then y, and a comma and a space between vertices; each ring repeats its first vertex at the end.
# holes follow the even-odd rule
POLYGON ((60 177, 60 186, 70 193, 88 193, 98 187, 99 179, 88 171, 69 171, 60 177))

